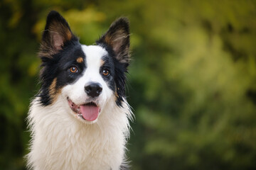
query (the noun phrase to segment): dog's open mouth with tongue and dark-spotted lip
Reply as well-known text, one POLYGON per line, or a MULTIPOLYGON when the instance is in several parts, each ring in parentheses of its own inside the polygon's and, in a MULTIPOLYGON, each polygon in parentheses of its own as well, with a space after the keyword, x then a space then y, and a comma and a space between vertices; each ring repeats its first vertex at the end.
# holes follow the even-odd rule
POLYGON ((97 106, 95 102, 90 101, 82 105, 76 105, 73 101, 70 100, 70 98, 67 99, 68 105, 70 106, 71 110, 84 120, 96 120, 100 114, 100 107, 97 106))

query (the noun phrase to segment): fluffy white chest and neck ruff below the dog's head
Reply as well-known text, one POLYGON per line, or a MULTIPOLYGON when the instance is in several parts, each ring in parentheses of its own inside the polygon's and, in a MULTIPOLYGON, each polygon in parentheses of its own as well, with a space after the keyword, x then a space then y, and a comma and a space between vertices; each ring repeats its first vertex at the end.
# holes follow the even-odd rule
POLYGON ((41 169, 117 170, 125 161, 132 112, 127 102, 108 101, 94 124, 82 123, 61 95, 50 106, 31 103, 28 123, 32 132, 28 167, 41 169), (66 104, 65 104, 66 103, 66 104))

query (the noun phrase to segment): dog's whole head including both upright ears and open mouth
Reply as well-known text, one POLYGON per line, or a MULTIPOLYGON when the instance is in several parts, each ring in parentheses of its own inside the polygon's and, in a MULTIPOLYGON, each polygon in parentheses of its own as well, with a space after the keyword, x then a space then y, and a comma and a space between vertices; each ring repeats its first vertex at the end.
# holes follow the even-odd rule
POLYGON ((59 13, 49 13, 39 56, 42 60, 43 106, 63 98, 68 112, 85 123, 95 123, 109 102, 122 107, 125 73, 129 65, 129 23, 112 23, 96 45, 81 45, 59 13))

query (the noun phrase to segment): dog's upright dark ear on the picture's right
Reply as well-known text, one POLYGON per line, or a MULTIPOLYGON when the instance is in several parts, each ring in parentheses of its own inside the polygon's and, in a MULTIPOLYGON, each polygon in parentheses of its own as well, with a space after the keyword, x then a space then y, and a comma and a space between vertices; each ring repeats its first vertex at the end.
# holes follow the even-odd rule
POLYGON ((107 44, 112 48, 119 62, 129 64, 129 21, 119 18, 110 26, 97 43, 107 44))

